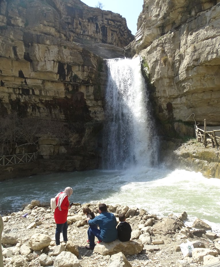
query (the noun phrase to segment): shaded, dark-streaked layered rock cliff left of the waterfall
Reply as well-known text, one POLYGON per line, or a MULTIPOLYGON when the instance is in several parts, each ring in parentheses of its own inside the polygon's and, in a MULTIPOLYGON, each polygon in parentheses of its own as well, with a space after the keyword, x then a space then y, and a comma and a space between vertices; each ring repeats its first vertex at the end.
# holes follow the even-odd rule
MULTIPOLYGON (((125 18, 80 0, 1 0, 1 118, 14 112, 19 118, 31 118, 29 124, 38 125, 39 120, 52 124, 42 136, 46 141, 39 144, 39 155, 74 156, 69 171, 97 167, 106 76, 103 58, 124 57, 123 47, 133 39, 125 18), (62 127, 55 135, 51 130, 60 122, 72 132, 65 147, 56 140, 62 127)), ((14 153, 7 146, 0 152, 14 153)))

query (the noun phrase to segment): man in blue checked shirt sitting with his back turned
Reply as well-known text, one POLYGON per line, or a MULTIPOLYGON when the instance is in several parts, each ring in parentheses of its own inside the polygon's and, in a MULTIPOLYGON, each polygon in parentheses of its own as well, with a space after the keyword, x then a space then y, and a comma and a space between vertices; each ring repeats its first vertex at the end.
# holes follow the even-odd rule
POLYGON ((106 204, 99 204, 99 216, 94 219, 87 218, 89 225, 99 225, 99 229, 90 228, 89 231, 89 246, 85 246, 86 249, 93 250, 95 247, 95 236, 103 242, 112 242, 117 239, 118 232, 116 229, 117 220, 115 215, 111 212, 107 212, 106 204))

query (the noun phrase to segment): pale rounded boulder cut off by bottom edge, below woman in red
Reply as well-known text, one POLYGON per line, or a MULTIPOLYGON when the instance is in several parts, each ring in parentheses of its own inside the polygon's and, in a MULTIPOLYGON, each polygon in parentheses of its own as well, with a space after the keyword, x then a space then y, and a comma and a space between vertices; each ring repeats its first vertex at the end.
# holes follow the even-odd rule
POLYGON ((54 261, 58 267, 81 267, 77 257, 69 251, 62 251, 54 261))

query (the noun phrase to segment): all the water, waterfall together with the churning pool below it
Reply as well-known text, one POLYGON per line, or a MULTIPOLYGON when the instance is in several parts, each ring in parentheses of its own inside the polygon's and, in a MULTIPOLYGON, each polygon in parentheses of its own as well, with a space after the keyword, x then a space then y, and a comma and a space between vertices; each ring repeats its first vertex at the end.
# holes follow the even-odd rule
POLYGON ((1 213, 32 200, 49 202, 65 187, 72 202, 104 202, 144 208, 158 216, 188 214, 219 233, 220 179, 171 171, 158 162, 158 138, 140 59, 108 60, 103 129, 103 170, 54 173, 0 183, 1 213))

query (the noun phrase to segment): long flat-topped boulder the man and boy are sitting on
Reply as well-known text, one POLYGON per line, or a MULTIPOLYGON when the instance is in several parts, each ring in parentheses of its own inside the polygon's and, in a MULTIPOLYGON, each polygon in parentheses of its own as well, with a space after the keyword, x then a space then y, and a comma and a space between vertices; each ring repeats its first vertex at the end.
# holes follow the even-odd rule
POLYGON ((140 251, 142 251, 142 247, 140 244, 138 244, 135 241, 127 241, 127 242, 121 242, 118 239, 116 239, 113 242, 105 243, 101 242, 97 244, 94 248, 95 253, 99 253, 103 256, 106 255, 113 255, 117 254, 119 252, 122 252, 126 255, 135 255, 138 254, 140 251))

